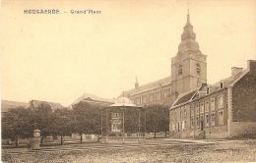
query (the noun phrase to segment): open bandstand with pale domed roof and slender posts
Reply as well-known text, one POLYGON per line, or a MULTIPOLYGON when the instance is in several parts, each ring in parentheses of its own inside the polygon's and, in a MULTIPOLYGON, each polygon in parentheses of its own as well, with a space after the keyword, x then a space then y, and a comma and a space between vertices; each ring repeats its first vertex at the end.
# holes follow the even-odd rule
POLYGON ((145 108, 134 105, 127 97, 101 110, 102 143, 145 142, 145 108))

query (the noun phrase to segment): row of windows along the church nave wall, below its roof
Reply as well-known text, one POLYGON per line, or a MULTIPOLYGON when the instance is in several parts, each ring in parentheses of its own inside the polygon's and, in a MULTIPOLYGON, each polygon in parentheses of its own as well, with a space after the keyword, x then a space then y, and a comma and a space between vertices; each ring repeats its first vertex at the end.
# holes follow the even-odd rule
POLYGON ((141 97, 136 97, 132 100, 132 103, 136 105, 146 104, 147 102, 160 101, 166 98, 171 92, 171 88, 167 88, 156 93, 150 93, 148 95, 142 95, 141 97))

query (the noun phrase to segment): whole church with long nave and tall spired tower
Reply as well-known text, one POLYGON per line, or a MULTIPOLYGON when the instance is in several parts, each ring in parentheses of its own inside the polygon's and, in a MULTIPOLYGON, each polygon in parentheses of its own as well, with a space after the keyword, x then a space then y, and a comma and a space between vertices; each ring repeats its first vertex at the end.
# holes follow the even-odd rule
POLYGON ((189 14, 183 28, 178 52, 171 58, 170 76, 141 86, 136 78, 135 88, 125 91, 120 96, 128 97, 139 106, 160 103, 170 107, 179 94, 207 81, 207 56, 199 49, 189 14))

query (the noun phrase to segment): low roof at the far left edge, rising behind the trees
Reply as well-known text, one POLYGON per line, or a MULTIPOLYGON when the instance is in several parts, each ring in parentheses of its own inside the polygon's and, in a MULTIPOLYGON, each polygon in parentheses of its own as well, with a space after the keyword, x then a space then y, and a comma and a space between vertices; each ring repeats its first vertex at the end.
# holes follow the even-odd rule
POLYGON ((29 107, 29 103, 26 102, 18 102, 18 101, 9 101, 9 100, 1 100, 1 114, 2 116, 8 112, 12 108, 17 108, 17 107, 29 107))

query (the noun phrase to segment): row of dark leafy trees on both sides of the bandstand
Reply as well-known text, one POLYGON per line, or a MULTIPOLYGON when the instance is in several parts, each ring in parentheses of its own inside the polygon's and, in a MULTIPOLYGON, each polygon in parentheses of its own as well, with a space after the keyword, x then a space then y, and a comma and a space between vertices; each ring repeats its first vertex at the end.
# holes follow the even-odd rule
MULTIPOLYGON (((149 105, 143 109, 127 109, 125 112, 125 133, 156 133, 168 130, 168 108, 163 105, 149 105), (140 117, 140 125, 139 124, 140 117), (145 119, 146 118, 146 119, 145 119), (146 127, 145 127, 146 125, 146 127), (140 129, 139 129, 140 126, 140 129)), ((42 103, 38 107, 17 107, 2 116, 2 138, 17 136, 32 137, 38 129, 41 136, 70 136, 71 134, 101 134, 106 130, 105 109, 99 105, 79 102, 72 110, 59 108, 52 110, 42 103), (101 127, 101 123, 103 124, 101 127)), ((108 122, 108 128, 110 124, 108 122)), ((109 129, 108 129, 109 130, 109 129)))

